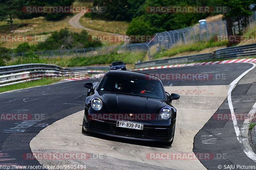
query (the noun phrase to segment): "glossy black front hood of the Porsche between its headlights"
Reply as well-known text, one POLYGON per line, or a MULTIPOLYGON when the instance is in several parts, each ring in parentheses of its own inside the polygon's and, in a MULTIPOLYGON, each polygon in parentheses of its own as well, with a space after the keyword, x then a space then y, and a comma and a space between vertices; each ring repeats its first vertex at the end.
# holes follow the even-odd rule
POLYGON ((127 96, 122 94, 102 94, 110 113, 145 113, 153 114, 163 103, 147 97, 127 96))

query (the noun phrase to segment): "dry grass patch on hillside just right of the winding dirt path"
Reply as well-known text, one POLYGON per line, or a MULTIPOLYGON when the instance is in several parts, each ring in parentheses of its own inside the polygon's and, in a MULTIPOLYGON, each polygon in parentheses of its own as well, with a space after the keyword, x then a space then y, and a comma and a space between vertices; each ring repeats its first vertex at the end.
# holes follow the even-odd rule
POLYGON ((90 28, 93 30, 103 31, 103 32, 111 32, 118 34, 125 34, 128 28, 129 22, 126 21, 107 21, 101 20, 99 18, 80 18, 80 24, 85 28, 90 28), (90 23, 92 20, 92 24, 90 23))

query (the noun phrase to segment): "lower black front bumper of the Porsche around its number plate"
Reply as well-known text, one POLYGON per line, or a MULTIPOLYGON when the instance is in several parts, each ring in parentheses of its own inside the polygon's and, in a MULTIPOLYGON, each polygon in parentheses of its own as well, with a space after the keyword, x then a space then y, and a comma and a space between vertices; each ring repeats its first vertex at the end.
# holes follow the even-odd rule
POLYGON ((175 121, 168 126, 144 124, 143 130, 116 127, 116 121, 86 120, 84 115, 83 129, 88 132, 118 138, 145 141, 170 142, 174 136, 175 121))

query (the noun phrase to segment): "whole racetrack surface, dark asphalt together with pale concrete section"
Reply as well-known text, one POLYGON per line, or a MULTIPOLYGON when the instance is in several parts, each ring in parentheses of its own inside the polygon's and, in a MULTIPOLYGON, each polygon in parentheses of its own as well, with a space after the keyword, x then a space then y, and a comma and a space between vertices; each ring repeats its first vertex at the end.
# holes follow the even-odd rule
MULTIPOLYGON (((70 81, 2 93, 0 94, 1 114, 28 113, 32 117, 38 114, 44 115, 45 118, 30 121, 1 120, 0 165, 63 165, 67 163, 74 165, 83 163, 89 169, 120 169, 120 167, 123 169, 186 169, 189 167, 190 169, 203 169, 204 167, 217 169, 218 165, 224 166, 228 163, 255 165, 255 162, 245 155, 241 143, 236 139, 232 120, 216 121, 214 119, 215 122, 211 122, 213 114, 230 113, 226 99, 229 84, 250 67, 252 65, 248 63, 234 63, 143 71, 150 74, 212 74, 210 80, 163 81, 166 91, 181 95, 180 100, 173 102, 178 110, 178 116, 172 147, 157 143, 105 138, 97 135, 82 135, 82 114, 79 111, 84 109, 86 97, 86 89, 83 87, 84 81, 70 81), (226 75, 225 79, 219 80, 219 75, 216 74, 226 75), (72 116, 73 113, 76 115, 72 116), (67 117, 69 115, 71 116, 67 117), (64 117, 67 118, 63 119, 64 117), (43 130, 42 133, 39 133, 41 130, 43 130), (219 133, 220 137, 214 139, 216 141, 214 144, 202 143, 203 135, 219 133), (39 164, 37 160, 24 159, 24 154, 31 153, 31 148, 34 150, 33 152, 46 153, 71 151, 102 153, 104 159, 90 159, 84 162, 81 160, 80 162, 39 160, 39 164), (212 153, 214 159, 151 160, 146 157, 146 154, 152 152, 212 153), (217 159, 220 157, 222 159, 217 159)), ((252 72, 247 75, 255 75, 252 72)), ((248 113, 255 103, 253 94, 255 93, 255 79, 247 77, 246 80, 243 78, 241 81, 244 83, 238 84, 232 92, 232 97, 238 101, 235 110, 237 113, 248 113), (241 100, 241 106, 239 100, 241 100)), ((244 120, 238 121, 240 128, 243 122, 244 120)))

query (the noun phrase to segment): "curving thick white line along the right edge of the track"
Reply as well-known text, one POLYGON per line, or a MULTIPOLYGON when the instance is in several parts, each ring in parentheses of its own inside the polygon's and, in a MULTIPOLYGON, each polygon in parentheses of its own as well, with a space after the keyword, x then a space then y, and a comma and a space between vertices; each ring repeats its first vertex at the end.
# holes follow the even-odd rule
MULTIPOLYGON (((256 64, 255 63, 250 63, 252 64, 253 66, 246 70, 243 74, 241 74, 239 77, 237 77, 234 81, 232 81, 230 83, 230 88, 228 89, 228 105, 229 105, 229 109, 230 109, 230 112, 231 112, 231 117, 232 117, 232 121, 233 121, 233 125, 234 125, 234 129, 236 131, 236 137, 237 137, 237 140, 240 142, 240 143, 243 143, 244 144, 244 153, 250 158, 252 159, 253 161, 256 162, 256 154, 252 151, 252 148, 251 146, 249 145, 249 141, 248 141, 248 138, 242 138, 241 137, 239 138, 239 134, 240 134, 240 130, 239 130, 239 127, 237 125, 237 121, 236 121, 236 116, 235 116, 235 113, 234 113, 234 108, 233 108, 233 104, 232 104, 232 100, 231 100, 231 92, 233 90, 233 88, 235 87, 235 85, 238 83, 238 81, 240 81, 245 74, 249 73, 252 69, 254 69, 256 67, 256 64)), ((254 105, 253 105, 254 106, 254 105)), ((253 107, 252 107, 252 110, 253 107)), ((251 111, 250 111, 251 112, 251 111)), ((249 113, 250 113, 249 112, 249 113)), ((248 113, 248 114, 249 114, 248 113)), ((248 122, 247 122, 248 123, 248 122)), ((242 129, 241 129, 242 130, 242 129)), ((246 132, 248 133, 248 126, 244 126, 243 128, 243 132, 246 132)), ((243 133, 242 132, 242 133, 243 133)), ((247 135, 247 134, 246 134, 247 135)))

